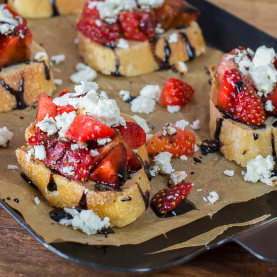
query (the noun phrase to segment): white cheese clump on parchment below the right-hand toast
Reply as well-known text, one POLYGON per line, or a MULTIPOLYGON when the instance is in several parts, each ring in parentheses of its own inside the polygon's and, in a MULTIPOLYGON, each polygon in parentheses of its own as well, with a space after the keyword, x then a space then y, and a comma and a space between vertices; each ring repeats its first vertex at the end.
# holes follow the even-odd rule
POLYGON ((275 185, 277 177, 271 177, 274 164, 275 162, 272 156, 268 155, 266 158, 263 158, 261 155, 258 155, 255 159, 247 162, 244 181, 253 183, 261 181, 269 186, 275 185))

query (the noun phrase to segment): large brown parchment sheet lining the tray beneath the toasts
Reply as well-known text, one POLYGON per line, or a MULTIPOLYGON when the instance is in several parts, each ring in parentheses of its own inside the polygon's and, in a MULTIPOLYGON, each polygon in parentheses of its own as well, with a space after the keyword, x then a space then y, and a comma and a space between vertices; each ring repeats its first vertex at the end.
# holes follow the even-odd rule
MULTIPOLYGON (((57 95, 63 89, 73 90, 74 84, 69 81, 69 77, 75 72, 75 65, 82 61, 74 45, 76 38, 75 17, 55 17, 44 20, 29 20, 29 26, 34 34, 34 39, 42 43, 49 55, 65 54, 65 62, 53 65, 55 78, 63 80, 63 85, 58 86, 54 92, 57 95)), ((133 95, 140 92, 146 84, 159 84, 161 87, 170 77, 181 78, 188 82, 195 89, 195 96, 191 103, 180 112, 170 114, 167 110, 156 105, 156 111, 149 115, 141 115, 146 118, 155 129, 153 132, 162 128, 166 122, 176 122, 185 118, 189 122, 199 118, 201 128, 194 131, 197 141, 209 137, 209 91, 208 83, 210 76, 206 74, 204 67, 210 64, 218 64, 222 53, 220 51, 207 48, 207 53, 195 60, 187 63, 189 72, 183 77, 179 77, 172 71, 156 72, 137 78, 116 78, 100 75, 96 82, 101 90, 105 90, 109 97, 117 100, 121 111, 131 113, 129 104, 122 102, 118 97, 121 89, 130 90, 133 95)), ((20 170, 7 170, 8 164, 16 165, 17 160, 15 150, 25 144, 24 131, 31 121, 35 119, 36 110, 31 107, 25 110, 14 110, 0 114, 0 125, 7 126, 14 132, 14 137, 8 149, 0 149, 0 196, 6 198, 6 202, 14 209, 18 210, 26 222, 39 234, 46 242, 73 241, 88 243, 91 245, 123 245, 138 244, 147 241, 160 234, 188 224, 206 215, 215 214, 224 206, 241 201, 247 201, 261 196, 275 187, 266 186, 261 183, 247 183, 241 176, 241 167, 233 162, 224 159, 221 154, 210 154, 202 158, 202 163, 194 163, 192 158, 188 161, 174 159, 172 164, 176 170, 185 170, 188 173, 186 181, 193 182, 194 186, 188 197, 195 203, 197 210, 185 215, 161 219, 154 215, 151 209, 137 219, 132 224, 114 229, 115 234, 110 234, 108 238, 101 235, 87 236, 81 231, 74 231, 72 227, 63 227, 53 222, 48 213, 53 209, 41 196, 40 192, 31 187, 20 176, 20 170), (223 174, 224 170, 234 170, 234 177, 227 177, 223 174), (194 175, 190 174, 194 172, 194 175), (202 189, 197 192, 196 189, 202 189), (219 194, 219 200, 215 204, 209 204, 202 200, 210 191, 215 190, 219 194), (40 204, 36 205, 34 197, 38 196, 40 204), (7 200, 11 197, 11 200, 7 200), (13 201, 18 198, 19 202, 13 201)), ((200 152, 196 152, 194 157, 199 158, 200 152)), ((165 188, 168 176, 158 175, 151 182, 151 197, 158 190, 165 188)), ((219 231, 220 233, 220 231, 219 231)))

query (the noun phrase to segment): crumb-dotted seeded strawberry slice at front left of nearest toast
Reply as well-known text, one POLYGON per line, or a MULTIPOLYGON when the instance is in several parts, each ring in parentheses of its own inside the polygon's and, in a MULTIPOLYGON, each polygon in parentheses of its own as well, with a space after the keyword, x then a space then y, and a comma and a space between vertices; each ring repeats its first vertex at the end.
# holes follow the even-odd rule
POLYGON ((89 178, 92 157, 85 149, 71 150, 71 144, 57 140, 50 142, 46 148, 45 164, 61 175, 81 182, 89 178))

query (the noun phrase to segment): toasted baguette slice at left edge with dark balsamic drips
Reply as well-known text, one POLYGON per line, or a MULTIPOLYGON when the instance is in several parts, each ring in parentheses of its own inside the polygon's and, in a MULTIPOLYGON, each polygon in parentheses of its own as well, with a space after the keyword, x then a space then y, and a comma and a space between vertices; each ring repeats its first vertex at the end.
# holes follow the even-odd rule
POLYGON ((30 61, 1 68, 0 112, 10 111, 19 104, 19 101, 5 88, 5 85, 11 87, 18 97, 23 96, 23 102, 27 105, 35 103, 41 93, 49 94, 55 89, 49 58, 44 55, 39 60, 34 60, 37 52, 45 52, 45 50, 33 41, 30 61))

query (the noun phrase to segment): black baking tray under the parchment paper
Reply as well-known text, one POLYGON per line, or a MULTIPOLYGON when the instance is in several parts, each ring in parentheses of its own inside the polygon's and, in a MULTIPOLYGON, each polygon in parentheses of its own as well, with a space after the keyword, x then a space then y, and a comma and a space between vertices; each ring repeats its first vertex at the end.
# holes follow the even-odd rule
MULTIPOLYGON (((198 19, 206 42, 224 52, 238 45, 253 49, 260 45, 277 49, 277 40, 222 9, 204 1, 189 1, 201 15, 198 19)), ((277 263, 277 191, 248 202, 230 204, 212 218, 204 217, 188 225, 172 230, 138 245, 106 246, 102 248, 78 243, 47 244, 36 234, 23 217, 3 200, 0 204, 43 246, 57 255, 94 268, 96 271, 113 273, 140 273, 166 269, 184 263, 200 253, 216 248, 226 242, 236 242, 256 257, 277 263), (266 222, 255 226, 232 227, 209 245, 187 247, 157 254, 147 254, 184 242, 218 226, 253 220, 265 214, 271 215, 266 222)), ((131 234, 130 234, 131 235, 131 234)))

